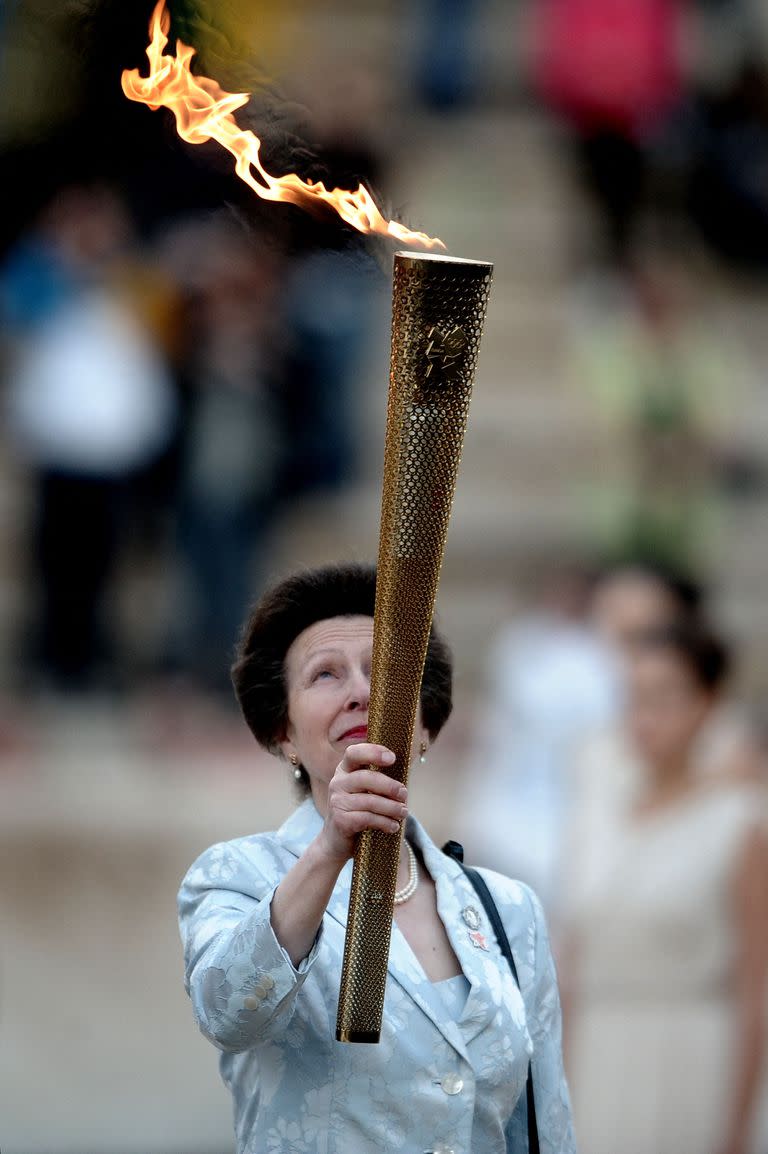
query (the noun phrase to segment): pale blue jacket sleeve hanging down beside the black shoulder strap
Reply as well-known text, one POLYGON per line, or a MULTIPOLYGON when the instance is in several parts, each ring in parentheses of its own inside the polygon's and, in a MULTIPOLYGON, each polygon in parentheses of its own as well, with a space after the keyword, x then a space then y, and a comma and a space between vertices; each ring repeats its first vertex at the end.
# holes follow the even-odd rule
MULTIPOLYGON (((563 1022, 555 960, 541 902, 528 886, 521 886, 530 911, 527 936, 510 937, 526 1005, 528 1033, 533 1042, 532 1073, 541 1154, 575 1154, 577 1145, 565 1071, 563 1022)), ((506 1129, 509 1154, 528 1149, 526 1094, 506 1129)))

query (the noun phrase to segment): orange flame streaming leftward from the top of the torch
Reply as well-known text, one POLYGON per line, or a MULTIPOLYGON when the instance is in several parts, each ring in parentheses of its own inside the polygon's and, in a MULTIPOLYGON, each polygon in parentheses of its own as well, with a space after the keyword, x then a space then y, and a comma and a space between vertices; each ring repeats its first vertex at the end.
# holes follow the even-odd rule
POLYGON ((363 185, 355 192, 327 189, 321 181, 302 180, 293 172, 284 177, 266 172, 259 159, 261 140, 250 129, 239 128, 233 115, 236 108, 248 104, 250 93, 225 92, 209 76, 193 76, 190 65, 195 50, 181 40, 176 42, 175 57, 165 54, 170 28, 166 0, 158 0, 150 20, 149 76, 142 76, 137 68, 122 74, 122 90, 129 100, 148 104, 153 110, 170 108, 176 119, 179 135, 189 144, 214 140, 227 149, 235 158, 238 175, 262 200, 285 201, 300 208, 322 202, 360 232, 381 233, 421 248, 445 248, 437 238, 411 232, 397 220, 386 220, 363 185))

